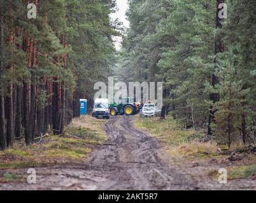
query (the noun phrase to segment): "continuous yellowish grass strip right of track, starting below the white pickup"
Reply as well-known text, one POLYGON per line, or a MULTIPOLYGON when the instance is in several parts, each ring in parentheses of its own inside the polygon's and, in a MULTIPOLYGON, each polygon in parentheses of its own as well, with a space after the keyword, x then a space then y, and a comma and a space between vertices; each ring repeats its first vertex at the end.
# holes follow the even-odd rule
MULTIPOLYGON (((184 129, 179 121, 171 117, 167 117, 164 120, 160 120, 157 117, 137 117, 135 125, 152 133, 154 137, 159 138, 160 142, 171 146, 167 150, 171 156, 184 156, 189 159, 218 156, 217 145, 210 142, 203 143, 192 140, 194 129, 184 129)), ((203 135, 201 133, 199 137, 203 135)))

